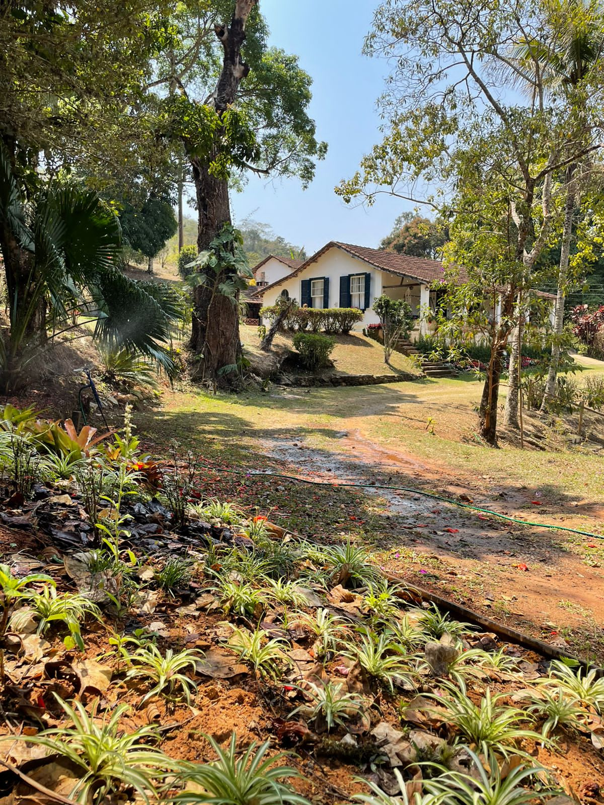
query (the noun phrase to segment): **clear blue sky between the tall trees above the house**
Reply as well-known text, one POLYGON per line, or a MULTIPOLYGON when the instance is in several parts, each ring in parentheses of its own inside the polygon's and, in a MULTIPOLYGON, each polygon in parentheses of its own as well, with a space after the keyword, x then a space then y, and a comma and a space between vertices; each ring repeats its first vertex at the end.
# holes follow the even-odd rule
POLYGON ((351 208, 333 192, 357 170, 362 155, 379 142, 376 101, 388 65, 362 56, 376 3, 372 0, 262 0, 271 44, 300 57, 313 79, 311 114, 317 134, 329 143, 307 190, 295 179, 273 183, 252 178, 233 193, 236 221, 251 217, 304 246, 308 254, 330 240, 378 246, 395 217, 412 208, 383 196, 372 208, 351 208))

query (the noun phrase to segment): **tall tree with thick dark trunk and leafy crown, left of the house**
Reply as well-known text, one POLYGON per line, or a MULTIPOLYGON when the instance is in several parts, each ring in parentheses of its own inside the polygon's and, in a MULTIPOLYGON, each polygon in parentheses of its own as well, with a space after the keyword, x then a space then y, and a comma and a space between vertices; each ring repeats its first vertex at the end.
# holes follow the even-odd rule
MULTIPOLYGON (((152 83, 172 93, 166 132, 183 142, 191 166, 203 253, 230 226, 229 182, 236 174, 298 175, 306 184, 325 143, 317 142, 307 114, 310 77, 295 56, 267 47, 254 0, 188 0, 174 23, 178 37, 152 83)), ((238 363, 237 299, 216 292, 230 287, 233 265, 224 267, 217 285, 201 283, 194 291, 198 378, 216 381, 238 363)))

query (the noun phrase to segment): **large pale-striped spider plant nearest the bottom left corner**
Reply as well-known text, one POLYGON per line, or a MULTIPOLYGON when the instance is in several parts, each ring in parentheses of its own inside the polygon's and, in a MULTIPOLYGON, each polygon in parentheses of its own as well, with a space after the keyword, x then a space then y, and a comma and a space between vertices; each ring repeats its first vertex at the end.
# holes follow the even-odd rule
POLYGON ((71 707, 56 694, 55 697, 73 726, 45 729, 35 736, 11 736, 10 740, 16 737, 45 746, 53 755, 66 758, 81 769, 81 778, 67 792, 78 803, 102 805, 128 788, 134 788, 146 805, 157 802, 159 791, 155 781, 165 777, 176 764, 145 742, 158 738, 155 728, 146 725, 125 733, 122 716, 130 709, 126 704, 119 704, 110 716, 105 712, 99 724, 98 700, 89 716, 81 702, 74 702, 71 707))

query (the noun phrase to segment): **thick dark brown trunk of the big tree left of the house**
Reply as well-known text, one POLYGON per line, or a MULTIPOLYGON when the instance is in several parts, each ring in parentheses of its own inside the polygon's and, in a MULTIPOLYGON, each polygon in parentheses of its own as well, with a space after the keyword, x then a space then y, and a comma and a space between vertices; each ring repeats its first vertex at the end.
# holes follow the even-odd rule
MULTIPOLYGON (((224 51, 222 71, 213 95, 214 108, 223 114, 235 101, 240 81, 249 72, 241 60, 241 48, 246 39, 246 22, 255 0, 236 0, 230 25, 216 26, 216 35, 224 51)), ((192 177, 197 196, 199 229, 197 246, 206 250, 220 233, 223 225, 230 224, 229 185, 209 172, 209 159, 189 155, 192 177)), ((228 272, 219 275, 216 285, 228 279, 228 272)), ((218 294, 212 288, 199 286, 194 292, 191 348, 196 353, 197 379, 216 382, 221 369, 233 366, 241 356, 239 341, 238 306, 233 299, 218 294)), ((229 382, 228 374, 224 379, 229 382)))

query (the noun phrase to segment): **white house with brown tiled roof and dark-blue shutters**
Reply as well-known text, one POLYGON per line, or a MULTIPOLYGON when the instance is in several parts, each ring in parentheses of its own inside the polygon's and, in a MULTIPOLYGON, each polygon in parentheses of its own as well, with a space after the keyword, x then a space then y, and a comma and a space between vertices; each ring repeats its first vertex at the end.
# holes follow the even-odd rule
MULTIPOLYGON (((265 258, 256 266, 257 278, 259 270, 264 270, 267 276, 267 269, 261 267, 267 266, 270 260, 265 258)), ((271 270, 283 272, 283 258, 272 260, 282 261, 282 266, 273 268, 271 265, 271 270)), ((406 299, 411 305, 416 318, 413 329, 416 337, 433 332, 435 328, 429 310, 436 311, 445 291, 432 286, 437 286, 444 277, 445 267, 439 260, 331 241, 287 275, 251 291, 247 299, 255 303, 256 310, 259 302, 270 307, 279 296, 296 299, 308 308, 359 308, 363 318, 355 328, 360 330, 368 324, 379 324, 371 306, 378 296, 385 294, 391 299, 406 299)), ((465 271, 460 270, 458 277, 463 281, 465 271)), ((537 295, 555 299, 552 294, 538 292, 537 295)))

